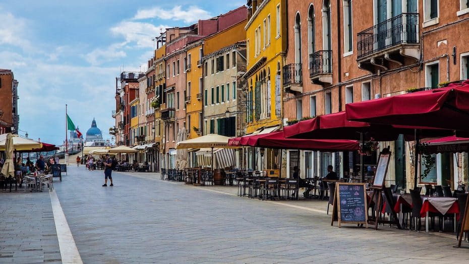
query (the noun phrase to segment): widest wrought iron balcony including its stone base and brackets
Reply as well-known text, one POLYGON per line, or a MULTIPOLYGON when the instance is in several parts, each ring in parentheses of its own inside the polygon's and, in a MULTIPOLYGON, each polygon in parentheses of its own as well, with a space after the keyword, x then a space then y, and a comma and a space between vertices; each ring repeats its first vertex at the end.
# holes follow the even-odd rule
POLYGON ((359 67, 384 70, 392 61, 402 65, 403 56, 420 59, 419 14, 402 13, 357 34, 359 67))

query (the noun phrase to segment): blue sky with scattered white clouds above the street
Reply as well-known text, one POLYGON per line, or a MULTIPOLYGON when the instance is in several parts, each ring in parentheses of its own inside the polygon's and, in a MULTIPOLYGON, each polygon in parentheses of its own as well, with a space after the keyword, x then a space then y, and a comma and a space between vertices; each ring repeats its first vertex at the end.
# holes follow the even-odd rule
POLYGON ((95 118, 104 140, 110 139, 115 77, 146 70, 152 39, 164 28, 191 25, 245 3, 0 1, 0 69, 11 69, 19 82, 19 134, 61 145, 67 104, 81 133, 95 118))

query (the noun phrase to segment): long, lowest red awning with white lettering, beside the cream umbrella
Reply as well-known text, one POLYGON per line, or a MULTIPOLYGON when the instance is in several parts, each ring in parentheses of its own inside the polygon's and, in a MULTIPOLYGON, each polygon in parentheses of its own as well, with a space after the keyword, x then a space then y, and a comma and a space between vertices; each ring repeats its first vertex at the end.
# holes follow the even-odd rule
MULTIPOLYGON (((360 144, 355 140, 309 140, 309 139, 285 139, 283 131, 269 134, 244 136, 239 142, 241 146, 270 148, 270 149, 298 149, 316 150, 323 152, 354 151, 360 149, 360 144)), ((229 144, 229 142, 228 142, 229 144)))

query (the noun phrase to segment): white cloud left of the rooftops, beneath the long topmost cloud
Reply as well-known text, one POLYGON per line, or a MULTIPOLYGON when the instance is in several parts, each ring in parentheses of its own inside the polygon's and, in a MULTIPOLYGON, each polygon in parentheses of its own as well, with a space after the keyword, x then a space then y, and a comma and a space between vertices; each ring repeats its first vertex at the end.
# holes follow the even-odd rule
POLYGON ((127 43, 134 43, 137 48, 152 48, 153 38, 159 36, 169 26, 154 26, 150 23, 122 21, 110 30, 112 34, 123 36, 127 43))

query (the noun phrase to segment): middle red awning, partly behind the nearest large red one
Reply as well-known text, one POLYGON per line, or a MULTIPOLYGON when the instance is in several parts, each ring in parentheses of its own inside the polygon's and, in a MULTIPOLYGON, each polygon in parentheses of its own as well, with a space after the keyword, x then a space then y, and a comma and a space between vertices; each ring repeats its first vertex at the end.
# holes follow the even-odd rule
MULTIPOLYGON (((344 111, 320 115, 315 118, 300 121, 283 128, 285 138, 296 139, 346 139, 360 140, 363 134, 364 140, 394 141, 400 134, 406 140, 413 140, 415 128, 409 126, 375 124, 360 121, 349 121, 344 111)), ((438 137, 452 135, 452 131, 440 130, 431 127, 418 127, 423 129, 425 137, 438 137)))

